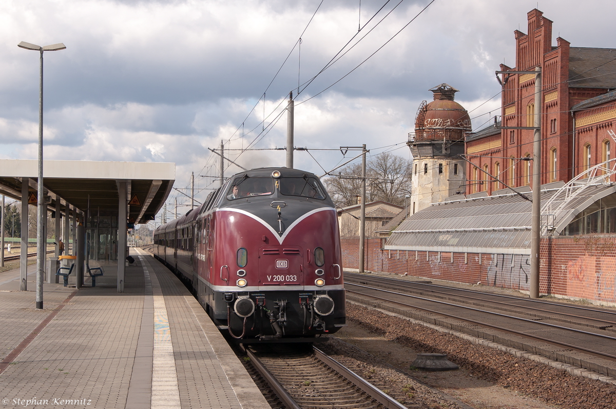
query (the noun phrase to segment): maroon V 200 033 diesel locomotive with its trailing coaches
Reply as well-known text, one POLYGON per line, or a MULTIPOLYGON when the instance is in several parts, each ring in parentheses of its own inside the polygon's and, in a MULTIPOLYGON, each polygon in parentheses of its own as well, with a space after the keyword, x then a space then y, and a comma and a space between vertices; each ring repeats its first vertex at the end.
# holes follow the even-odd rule
POLYGON ((345 325, 338 219, 312 173, 237 173, 156 229, 153 251, 240 342, 306 340, 345 325))

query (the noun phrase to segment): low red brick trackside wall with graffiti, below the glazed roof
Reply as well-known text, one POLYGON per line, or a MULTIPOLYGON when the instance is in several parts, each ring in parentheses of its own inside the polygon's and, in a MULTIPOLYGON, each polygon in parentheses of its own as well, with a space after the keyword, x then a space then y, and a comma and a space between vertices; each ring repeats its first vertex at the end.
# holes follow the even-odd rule
MULTIPOLYGON (((344 268, 359 267, 359 238, 341 240, 344 268)), ((426 279, 529 290, 527 255, 383 250, 365 241, 365 269, 426 279)), ((616 302, 616 236, 548 237, 541 240, 540 292, 616 302)))

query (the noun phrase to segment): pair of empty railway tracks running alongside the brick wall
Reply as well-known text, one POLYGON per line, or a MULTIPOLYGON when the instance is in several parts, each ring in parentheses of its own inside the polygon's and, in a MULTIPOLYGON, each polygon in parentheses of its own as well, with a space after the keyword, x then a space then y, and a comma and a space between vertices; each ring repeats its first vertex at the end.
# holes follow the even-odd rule
POLYGON ((616 312, 345 274, 347 299, 616 376, 616 312))

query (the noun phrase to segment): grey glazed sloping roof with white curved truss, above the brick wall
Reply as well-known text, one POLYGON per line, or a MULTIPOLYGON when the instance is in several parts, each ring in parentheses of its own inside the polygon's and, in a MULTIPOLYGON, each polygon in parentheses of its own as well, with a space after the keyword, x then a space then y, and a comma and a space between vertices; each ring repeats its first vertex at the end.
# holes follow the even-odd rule
MULTIPOLYGON (((616 186, 610 183, 593 182, 541 186, 543 235, 562 234, 578 214, 616 193, 616 186)), ((532 192, 523 194, 532 200, 532 192)), ((529 254, 532 202, 510 189, 495 191, 492 196, 477 196, 480 195, 452 197, 409 216, 391 232, 385 248, 529 254)))

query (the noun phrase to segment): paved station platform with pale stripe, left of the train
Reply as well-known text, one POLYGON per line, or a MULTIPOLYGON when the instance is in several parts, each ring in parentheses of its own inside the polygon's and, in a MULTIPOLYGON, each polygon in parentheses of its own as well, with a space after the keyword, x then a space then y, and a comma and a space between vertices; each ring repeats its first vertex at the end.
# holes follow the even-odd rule
POLYGON ((18 269, 0 273, 2 407, 268 408, 177 277, 140 248, 131 255, 124 293, 103 265, 96 287, 87 273, 79 290, 44 284, 43 310, 34 266, 25 292, 18 269))

